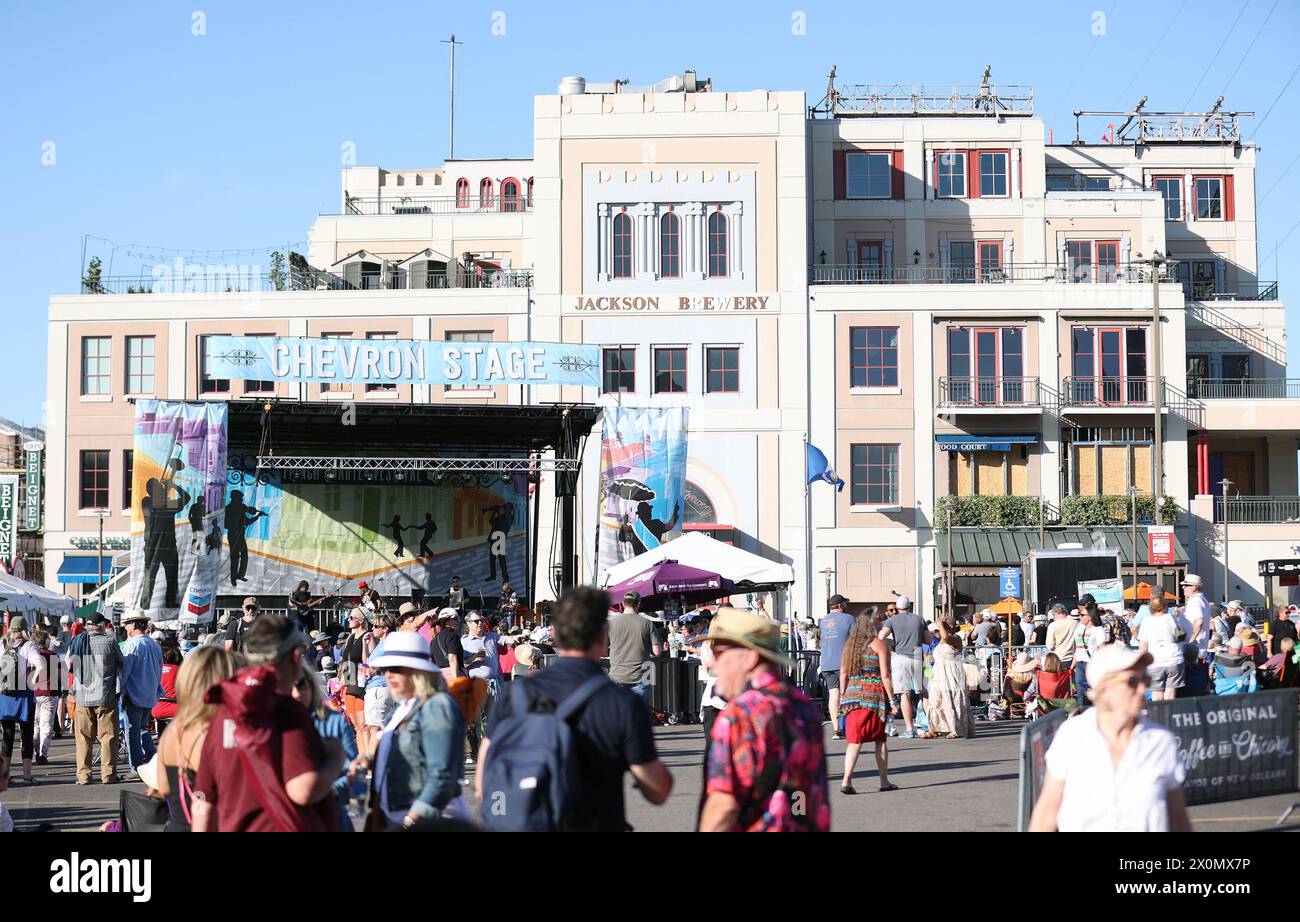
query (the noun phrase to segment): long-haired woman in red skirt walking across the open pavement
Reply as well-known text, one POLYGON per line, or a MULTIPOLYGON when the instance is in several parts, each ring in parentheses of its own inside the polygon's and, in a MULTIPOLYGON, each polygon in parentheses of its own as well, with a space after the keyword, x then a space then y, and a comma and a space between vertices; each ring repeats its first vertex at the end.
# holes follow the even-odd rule
POLYGON ((849 640, 840 658, 840 714, 844 715, 844 780, 840 791, 855 795, 853 769, 864 743, 876 746, 876 769, 880 789, 896 791, 889 783, 889 750, 885 744, 885 722, 889 719, 893 685, 889 680, 889 646, 879 636, 880 622, 872 606, 853 622, 849 640))

